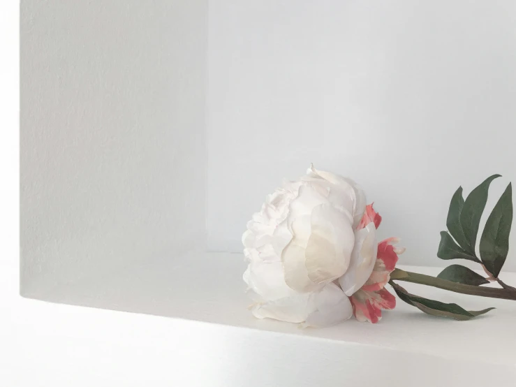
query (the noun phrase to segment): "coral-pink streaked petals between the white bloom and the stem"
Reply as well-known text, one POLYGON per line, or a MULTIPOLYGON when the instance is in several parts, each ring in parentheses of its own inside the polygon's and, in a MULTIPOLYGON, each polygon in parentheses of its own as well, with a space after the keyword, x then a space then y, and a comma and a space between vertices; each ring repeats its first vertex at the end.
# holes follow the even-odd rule
MULTIPOLYGON (((373 205, 367 205, 358 228, 363 228, 371 221, 378 228, 381 220, 381 216, 374 211, 373 205)), ((378 243, 373 272, 362 288, 349 298, 353 305, 353 314, 358 321, 377 323, 382 317, 382 309, 394 309, 396 306, 395 296, 384 286, 389 282, 392 270, 395 270, 398 255, 405 251, 404 248, 395 246, 397 242, 399 242, 398 238, 388 238, 378 243)))

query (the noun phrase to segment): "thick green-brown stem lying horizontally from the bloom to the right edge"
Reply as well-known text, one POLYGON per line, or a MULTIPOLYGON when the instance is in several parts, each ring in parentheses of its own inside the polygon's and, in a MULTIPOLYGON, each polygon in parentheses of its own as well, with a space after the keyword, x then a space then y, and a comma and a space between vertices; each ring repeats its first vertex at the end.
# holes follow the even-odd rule
POLYGON ((457 282, 448 281, 447 279, 436 278, 431 275, 424 275, 415 272, 406 272, 401 269, 395 269, 395 271, 390 274, 390 279, 412 282, 413 284, 434 286, 434 288, 455 291, 455 293, 502 298, 504 300, 516 300, 516 289, 508 285, 506 285, 507 287, 504 286, 504 289, 497 289, 486 288, 484 286, 458 284, 457 282))

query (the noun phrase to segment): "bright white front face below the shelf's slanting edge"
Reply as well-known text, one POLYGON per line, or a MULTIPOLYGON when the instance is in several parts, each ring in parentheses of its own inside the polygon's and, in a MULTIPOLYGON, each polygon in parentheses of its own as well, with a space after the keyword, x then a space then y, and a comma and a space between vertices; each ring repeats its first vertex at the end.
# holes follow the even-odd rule
POLYGON ((34 300, 8 307, 0 339, 10 351, 0 351, 0 377, 10 387, 475 387, 513 386, 516 378, 515 367, 482 360, 492 347, 477 349, 474 360, 450 361, 34 300))

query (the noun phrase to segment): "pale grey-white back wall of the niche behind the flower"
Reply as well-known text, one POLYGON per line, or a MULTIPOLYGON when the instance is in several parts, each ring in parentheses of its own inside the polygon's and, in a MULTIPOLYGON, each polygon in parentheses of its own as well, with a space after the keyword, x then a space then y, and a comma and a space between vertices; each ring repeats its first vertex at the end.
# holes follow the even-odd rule
POLYGON ((265 194, 314 162, 367 189, 403 263, 444 264, 455 189, 516 182, 515 2, 209 4, 212 249, 241 250, 265 194))

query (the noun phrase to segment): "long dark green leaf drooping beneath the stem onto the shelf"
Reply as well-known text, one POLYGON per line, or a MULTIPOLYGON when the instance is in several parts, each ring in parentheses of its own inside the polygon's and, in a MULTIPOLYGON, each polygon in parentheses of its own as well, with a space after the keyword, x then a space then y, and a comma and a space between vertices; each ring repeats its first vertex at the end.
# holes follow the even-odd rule
POLYGON ((485 314, 494 309, 487 308, 482 310, 466 310, 462 307, 459 307, 457 304, 446 304, 445 302, 429 300, 428 298, 413 295, 408 293, 408 291, 406 291, 398 284, 395 284, 395 282, 391 281, 390 284, 395 289, 396 294, 399 298, 401 298, 401 300, 409 305, 412 305, 413 307, 417 307, 426 314, 431 314, 432 316, 450 317, 451 319, 465 321, 473 319, 473 317, 480 316, 480 314, 485 314))

